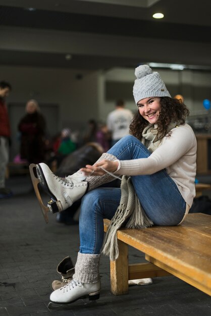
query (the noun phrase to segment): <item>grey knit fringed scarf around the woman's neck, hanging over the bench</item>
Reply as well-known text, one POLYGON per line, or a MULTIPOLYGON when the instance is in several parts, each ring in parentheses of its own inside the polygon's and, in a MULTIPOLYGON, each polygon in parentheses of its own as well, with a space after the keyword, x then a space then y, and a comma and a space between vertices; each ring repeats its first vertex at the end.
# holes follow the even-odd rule
MULTIPOLYGON (((169 124, 167 135, 171 129, 178 126, 178 123, 169 124)), ((149 124, 142 133, 141 142, 150 152, 153 152, 162 143, 163 139, 157 138, 157 126, 149 124)), ((153 225, 153 222, 146 216, 141 203, 134 190, 131 177, 123 176, 121 181, 121 199, 114 217, 109 225, 107 235, 103 241, 102 253, 110 256, 114 261, 118 258, 117 231, 127 220, 126 228, 146 228, 153 225)))

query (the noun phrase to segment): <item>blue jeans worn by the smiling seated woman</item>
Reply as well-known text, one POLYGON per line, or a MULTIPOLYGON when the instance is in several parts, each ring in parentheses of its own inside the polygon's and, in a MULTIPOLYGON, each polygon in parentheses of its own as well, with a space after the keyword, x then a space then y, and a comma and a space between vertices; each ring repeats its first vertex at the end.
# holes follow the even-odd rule
MULTIPOLYGON (((145 158, 147 148, 134 136, 125 136, 109 151, 119 160, 145 158)), ((131 176, 145 214, 154 225, 177 225, 184 217, 186 202, 165 170, 152 175, 131 176)), ((120 188, 96 188, 81 202, 80 252, 97 254, 103 242, 103 219, 112 219, 121 198, 120 188)))

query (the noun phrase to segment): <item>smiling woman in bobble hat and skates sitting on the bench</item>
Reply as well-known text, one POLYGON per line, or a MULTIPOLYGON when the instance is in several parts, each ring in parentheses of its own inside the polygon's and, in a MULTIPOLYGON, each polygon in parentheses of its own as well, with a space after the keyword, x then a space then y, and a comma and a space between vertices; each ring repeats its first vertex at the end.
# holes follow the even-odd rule
POLYGON ((171 98, 159 73, 142 65, 135 75, 137 113, 129 136, 103 153, 93 166, 87 165, 65 179, 56 177, 45 164, 36 166, 54 201, 49 207, 62 210, 82 197, 75 271, 71 270, 68 283, 57 283, 50 295, 52 302, 99 298, 100 254, 118 257, 117 229, 122 225, 140 229, 178 225, 192 205, 196 138, 185 123, 189 111, 183 102, 171 98), (121 188, 99 188, 113 176, 122 177, 121 188), (105 218, 112 221, 103 242, 105 218))

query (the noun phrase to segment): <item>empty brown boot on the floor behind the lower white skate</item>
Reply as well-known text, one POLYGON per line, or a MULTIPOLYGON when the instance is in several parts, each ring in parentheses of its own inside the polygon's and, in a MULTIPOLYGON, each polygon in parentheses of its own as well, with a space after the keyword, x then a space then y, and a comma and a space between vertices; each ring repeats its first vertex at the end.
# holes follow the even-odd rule
POLYGON ((52 282, 52 289, 55 291, 60 289, 61 287, 67 285, 69 281, 71 281, 75 268, 73 265, 73 261, 70 256, 65 257, 57 266, 57 272, 61 275, 62 281, 55 280, 52 282))

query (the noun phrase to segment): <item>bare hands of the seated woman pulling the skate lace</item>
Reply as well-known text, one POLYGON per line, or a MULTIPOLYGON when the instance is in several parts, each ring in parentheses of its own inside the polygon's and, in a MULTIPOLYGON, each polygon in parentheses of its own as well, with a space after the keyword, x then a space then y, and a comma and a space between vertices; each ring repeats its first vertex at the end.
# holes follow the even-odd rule
POLYGON ((114 173, 119 166, 118 162, 111 162, 110 160, 101 160, 98 163, 95 163, 93 166, 91 165, 86 165, 85 168, 81 168, 80 170, 85 173, 86 176, 102 176, 106 172, 102 170, 100 167, 103 169, 114 173))

